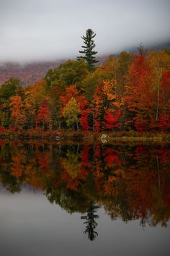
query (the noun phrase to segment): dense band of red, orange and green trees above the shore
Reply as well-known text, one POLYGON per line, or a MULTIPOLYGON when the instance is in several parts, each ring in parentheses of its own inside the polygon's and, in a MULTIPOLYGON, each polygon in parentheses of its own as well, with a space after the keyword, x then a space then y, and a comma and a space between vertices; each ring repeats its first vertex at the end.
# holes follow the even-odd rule
POLYGON ((0 86, 0 132, 169 132, 168 50, 122 51, 102 65, 68 60, 35 84, 0 86))

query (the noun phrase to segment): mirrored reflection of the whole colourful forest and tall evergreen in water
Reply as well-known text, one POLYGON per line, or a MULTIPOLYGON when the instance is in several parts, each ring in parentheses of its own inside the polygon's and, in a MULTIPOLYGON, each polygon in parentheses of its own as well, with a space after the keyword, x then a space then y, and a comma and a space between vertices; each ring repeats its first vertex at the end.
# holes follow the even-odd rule
POLYGON ((97 209, 114 220, 166 226, 170 217, 169 145, 62 145, 0 140, 0 182, 12 193, 27 184, 68 213, 81 213, 97 237, 97 209))

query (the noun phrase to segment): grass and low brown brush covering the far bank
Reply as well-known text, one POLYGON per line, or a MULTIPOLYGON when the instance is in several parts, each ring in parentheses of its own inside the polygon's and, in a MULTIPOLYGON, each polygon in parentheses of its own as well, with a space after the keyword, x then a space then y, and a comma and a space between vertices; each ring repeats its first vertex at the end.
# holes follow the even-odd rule
POLYGON ((123 140, 123 141, 170 141, 169 132, 77 132, 71 129, 48 130, 44 131, 40 127, 29 130, 15 130, 0 132, 1 138, 20 138, 20 139, 48 139, 48 140, 102 140, 104 142, 123 140))

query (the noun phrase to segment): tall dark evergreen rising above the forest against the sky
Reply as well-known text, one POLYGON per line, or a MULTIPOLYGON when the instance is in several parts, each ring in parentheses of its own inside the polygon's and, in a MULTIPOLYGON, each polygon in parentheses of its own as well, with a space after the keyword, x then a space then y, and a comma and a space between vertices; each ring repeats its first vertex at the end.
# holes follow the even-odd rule
POLYGON ((96 60, 95 56, 97 54, 97 51, 93 51, 94 47, 96 46, 94 43, 93 38, 96 36, 94 34, 94 31, 90 28, 86 30, 86 36, 81 36, 81 38, 84 40, 85 46, 81 46, 84 48, 84 51, 79 51, 80 54, 84 54, 84 56, 78 56, 77 59, 84 59, 87 64, 89 64, 89 69, 93 69, 94 64, 98 61, 96 60))

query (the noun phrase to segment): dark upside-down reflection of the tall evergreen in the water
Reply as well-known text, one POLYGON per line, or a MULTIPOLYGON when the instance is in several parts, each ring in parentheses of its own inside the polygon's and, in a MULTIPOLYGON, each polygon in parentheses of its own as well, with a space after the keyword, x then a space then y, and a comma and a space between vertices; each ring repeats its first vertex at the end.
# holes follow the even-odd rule
POLYGON ((86 229, 84 231, 84 234, 88 234, 88 237, 91 241, 93 241, 96 236, 98 236, 97 231, 94 231, 97 227, 97 222, 94 220, 95 218, 99 218, 97 214, 97 209, 99 206, 94 205, 93 202, 90 202, 89 209, 87 211, 86 216, 81 216, 81 219, 86 220, 84 224, 86 224, 86 229))

